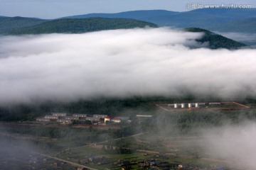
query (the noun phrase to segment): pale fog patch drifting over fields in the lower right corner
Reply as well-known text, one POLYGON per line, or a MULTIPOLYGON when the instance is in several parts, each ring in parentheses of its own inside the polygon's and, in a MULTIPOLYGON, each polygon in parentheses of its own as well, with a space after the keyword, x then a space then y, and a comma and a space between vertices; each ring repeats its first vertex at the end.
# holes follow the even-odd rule
POLYGON ((227 126, 221 132, 210 130, 205 135, 206 151, 217 159, 240 169, 256 169, 255 142, 256 124, 247 122, 244 125, 227 126))

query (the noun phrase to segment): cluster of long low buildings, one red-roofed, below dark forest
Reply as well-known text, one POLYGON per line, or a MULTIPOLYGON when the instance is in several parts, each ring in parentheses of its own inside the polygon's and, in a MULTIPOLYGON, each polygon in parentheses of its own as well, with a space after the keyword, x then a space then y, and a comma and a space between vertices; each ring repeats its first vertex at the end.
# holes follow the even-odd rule
POLYGON ((129 117, 110 117, 109 115, 87 115, 81 113, 51 113, 51 115, 45 115, 43 118, 37 118, 38 122, 57 122, 63 124, 70 124, 73 121, 78 120, 80 123, 121 123, 130 122, 129 117))

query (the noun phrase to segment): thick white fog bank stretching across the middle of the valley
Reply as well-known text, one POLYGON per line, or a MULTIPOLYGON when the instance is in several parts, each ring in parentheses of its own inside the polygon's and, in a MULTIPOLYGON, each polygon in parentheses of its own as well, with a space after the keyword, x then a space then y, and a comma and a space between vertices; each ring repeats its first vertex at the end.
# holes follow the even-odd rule
POLYGON ((170 28, 2 36, 0 103, 255 97, 256 50, 209 50, 196 42, 201 36, 170 28))

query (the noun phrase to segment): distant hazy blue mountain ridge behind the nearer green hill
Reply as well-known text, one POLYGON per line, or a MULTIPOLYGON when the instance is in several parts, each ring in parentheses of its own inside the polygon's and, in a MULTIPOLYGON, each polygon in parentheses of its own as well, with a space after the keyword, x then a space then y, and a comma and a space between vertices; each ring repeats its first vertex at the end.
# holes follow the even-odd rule
POLYGON ((256 8, 202 8, 185 12, 144 10, 122 13, 89 13, 79 16, 68 16, 65 18, 90 17, 133 18, 155 23, 158 26, 171 26, 174 28, 198 27, 211 31, 228 31, 223 28, 224 24, 225 27, 233 26, 233 32, 255 33, 255 29, 249 29, 247 26, 240 25, 240 22, 247 21, 252 25, 251 28, 256 28, 256 23, 253 20, 253 18, 256 18, 256 8))

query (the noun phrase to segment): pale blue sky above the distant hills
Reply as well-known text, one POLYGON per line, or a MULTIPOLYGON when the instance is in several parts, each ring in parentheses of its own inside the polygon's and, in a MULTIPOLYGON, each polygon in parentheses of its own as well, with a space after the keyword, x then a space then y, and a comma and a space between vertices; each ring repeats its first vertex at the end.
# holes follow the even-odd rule
POLYGON ((0 0, 0 16, 60 18, 86 13, 164 9, 188 11, 187 4, 251 4, 255 0, 0 0))

